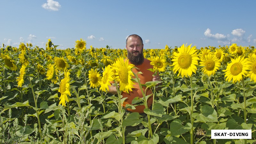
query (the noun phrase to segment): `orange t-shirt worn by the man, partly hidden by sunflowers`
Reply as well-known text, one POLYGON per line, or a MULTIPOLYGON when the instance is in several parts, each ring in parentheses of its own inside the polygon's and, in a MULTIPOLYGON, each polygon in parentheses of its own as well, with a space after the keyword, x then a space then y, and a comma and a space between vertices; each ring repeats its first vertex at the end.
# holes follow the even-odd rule
MULTIPOLYGON (((136 68, 132 69, 132 71, 135 74, 137 74, 139 71, 143 73, 143 74, 138 74, 138 77, 140 78, 140 83, 141 84, 145 84, 146 82, 149 82, 149 81, 153 80, 153 74, 154 73, 148 70, 149 68, 153 68, 153 66, 150 65, 150 62, 151 62, 150 60, 144 58, 144 62, 141 65, 137 65, 137 66, 135 66, 136 68)), ((129 61, 129 64, 131 64, 130 61, 129 61)), ((135 78, 135 76, 134 76, 134 78, 135 78)), ((123 98, 127 97, 127 99, 123 103, 123 107, 125 107, 126 104, 131 105, 132 100, 135 97, 143 98, 143 95, 142 95, 142 92, 140 90, 139 84, 135 83, 133 86, 134 86, 134 88, 132 88, 132 92, 129 92, 129 93, 122 92, 123 98)), ((146 87, 142 87, 142 88, 143 88, 143 91, 145 92, 146 87)), ((146 96, 151 94, 151 93, 152 93, 152 90, 147 89, 146 96)), ((153 97, 150 96, 148 98, 147 102, 148 102, 148 107, 150 107, 153 103, 153 97)), ((139 106, 136 106, 135 108, 136 109, 127 108, 127 110, 130 111, 130 112, 144 113, 144 111, 143 111, 144 108, 145 108, 144 105, 139 105, 139 106)))

